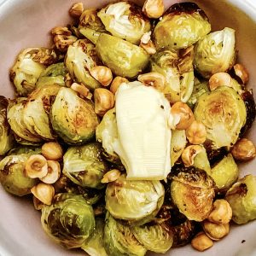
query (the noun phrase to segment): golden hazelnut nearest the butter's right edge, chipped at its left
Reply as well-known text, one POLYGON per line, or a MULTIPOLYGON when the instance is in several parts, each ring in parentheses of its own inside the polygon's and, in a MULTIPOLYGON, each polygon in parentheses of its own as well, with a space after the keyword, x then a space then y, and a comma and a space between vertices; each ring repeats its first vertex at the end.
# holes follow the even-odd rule
POLYGON ((180 117, 179 123, 176 125, 177 130, 186 130, 195 120, 191 108, 183 102, 174 103, 171 108, 171 113, 180 117))

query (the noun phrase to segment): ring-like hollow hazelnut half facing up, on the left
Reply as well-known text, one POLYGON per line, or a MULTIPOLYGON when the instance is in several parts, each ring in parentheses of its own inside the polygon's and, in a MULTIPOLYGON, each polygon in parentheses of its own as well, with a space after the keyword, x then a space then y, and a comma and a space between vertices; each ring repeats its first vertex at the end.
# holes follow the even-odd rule
POLYGON ((32 154, 25 164, 26 176, 44 177, 48 172, 47 160, 41 154, 32 154))

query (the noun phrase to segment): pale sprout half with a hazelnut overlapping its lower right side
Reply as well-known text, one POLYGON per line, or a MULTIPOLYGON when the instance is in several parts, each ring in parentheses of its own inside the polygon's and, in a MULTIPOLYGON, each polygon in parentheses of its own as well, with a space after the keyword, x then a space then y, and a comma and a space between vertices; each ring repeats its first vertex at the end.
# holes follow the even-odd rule
POLYGON ((88 89, 95 90, 101 84, 90 75, 90 69, 101 64, 95 45, 87 39, 80 39, 67 49, 65 64, 72 79, 84 84, 88 89))

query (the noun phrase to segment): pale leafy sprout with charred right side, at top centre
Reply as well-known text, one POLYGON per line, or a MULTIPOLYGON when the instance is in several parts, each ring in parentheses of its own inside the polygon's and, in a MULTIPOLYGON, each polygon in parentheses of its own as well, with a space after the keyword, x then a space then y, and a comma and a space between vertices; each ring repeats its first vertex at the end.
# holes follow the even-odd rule
POLYGON ((150 21, 135 3, 110 3, 98 13, 104 26, 114 37, 139 44, 143 34, 150 31, 150 21))

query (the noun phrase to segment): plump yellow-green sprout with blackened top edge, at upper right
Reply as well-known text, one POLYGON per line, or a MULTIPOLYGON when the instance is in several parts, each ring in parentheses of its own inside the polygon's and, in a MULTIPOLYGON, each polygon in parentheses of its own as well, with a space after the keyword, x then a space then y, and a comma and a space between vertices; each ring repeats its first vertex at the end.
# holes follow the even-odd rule
POLYGON ((182 49, 195 44, 210 31, 207 15, 195 3, 176 3, 155 26, 154 44, 158 49, 182 49))

